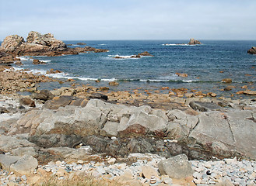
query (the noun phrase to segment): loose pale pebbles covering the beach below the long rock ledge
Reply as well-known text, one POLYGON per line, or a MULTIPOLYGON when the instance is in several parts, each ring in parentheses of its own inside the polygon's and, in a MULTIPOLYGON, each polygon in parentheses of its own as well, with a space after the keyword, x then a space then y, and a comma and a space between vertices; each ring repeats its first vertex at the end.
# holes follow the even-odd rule
MULTIPOLYGON (((135 156, 135 155, 134 155, 135 156)), ((139 156, 137 154, 137 156, 139 156)), ((64 161, 50 162, 46 165, 40 165, 50 175, 58 175, 58 179, 65 180, 71 174, 90 173, 94 177, 108 177, 112 180, 114 177, 124 175, 125 171, 130 171, 132 177, 139 180, 143 185, 173 185, 173 180, 168 176, 161 176, 161 180, 155 176, 150 179, 145 179, 141 176, 142 167, 150 166, 157 168, 157 164, 164 157, 156 155, 142 154, 142 158, 136 158, 136 162, 128 165, 125 163, 117 163, 114 157, 107 157, 105 162, 89 162, 86 163, 78 160, 76 163, 67 164, 64 161), (145 158, 146 156, 151 157, 145 158), (61 170, 61 171, 60 171, 61 170)), ((256 184, 256 162, 242 160, 237 158, 224 160, 191 160, 191 167, 195 171, 193 174, 193 181, 197 185, 214 185, 221 181, 230 181, 234 185, 249 185, 256 184)), ((8 185, 13 181, 16 185, 27 185, 27 177, 25 175, 16 175, 13 172, 0 170, 0 185, 8 185)))

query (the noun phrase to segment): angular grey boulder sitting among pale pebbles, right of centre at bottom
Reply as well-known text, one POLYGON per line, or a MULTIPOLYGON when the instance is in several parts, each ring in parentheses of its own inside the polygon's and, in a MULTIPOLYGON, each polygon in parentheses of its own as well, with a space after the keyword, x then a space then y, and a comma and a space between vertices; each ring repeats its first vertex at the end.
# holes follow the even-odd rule
POLYGON ((182 179, 191 176, 194 171, 188 162, 188 157, 184 154, 161 160, 158 164, 161 175, 169 175, 171 178, 182 179))

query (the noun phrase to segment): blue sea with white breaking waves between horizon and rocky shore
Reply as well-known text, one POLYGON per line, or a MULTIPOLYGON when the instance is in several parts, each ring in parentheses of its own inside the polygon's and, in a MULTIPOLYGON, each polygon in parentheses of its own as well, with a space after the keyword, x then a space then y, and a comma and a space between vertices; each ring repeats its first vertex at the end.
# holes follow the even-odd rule
MULTIPOLYGON (((73 78, 81 84, 96 87, 107 86, 113 91, 132 91, 135 88, 156 91, 162 87, 188 88, 212 91, 219 96, 236 96, 236 92, 247 85, 256 90, 256 55, 247 50, 256 46, 250 40, 201 40, 202 45, 190 46, 188 40, 76 40, 64 41, 66 44, 86 43, 86 46, 110 50, 107 53, 79 53, 61 57, 33 57, 47 64, 34 65, 30 57, 21 57, 23 67, 33 73, 63 71, 61 74, 47 74, 52 77, 73 78), (148 51, 153 57, 128 58, 134 54, 148 51), (114 59, 115 56, 124 59, 114 59), (188 74, 179 77, 176 73, 188 74), (232 84, 224 84, 223 78, 231 78, 232 84), (100 80, 100 83, 96 83, 100 80), (119 86, 111 87, 110 81, 119 86), (233 85, 231 91, 223 91, 233 85)), ((18 67, 20 68, 20 67, 18 67)), ((58 88, 63 84, 48 84, 58 88)), ((44 88, 44 85, 42 85, 44 88)))

